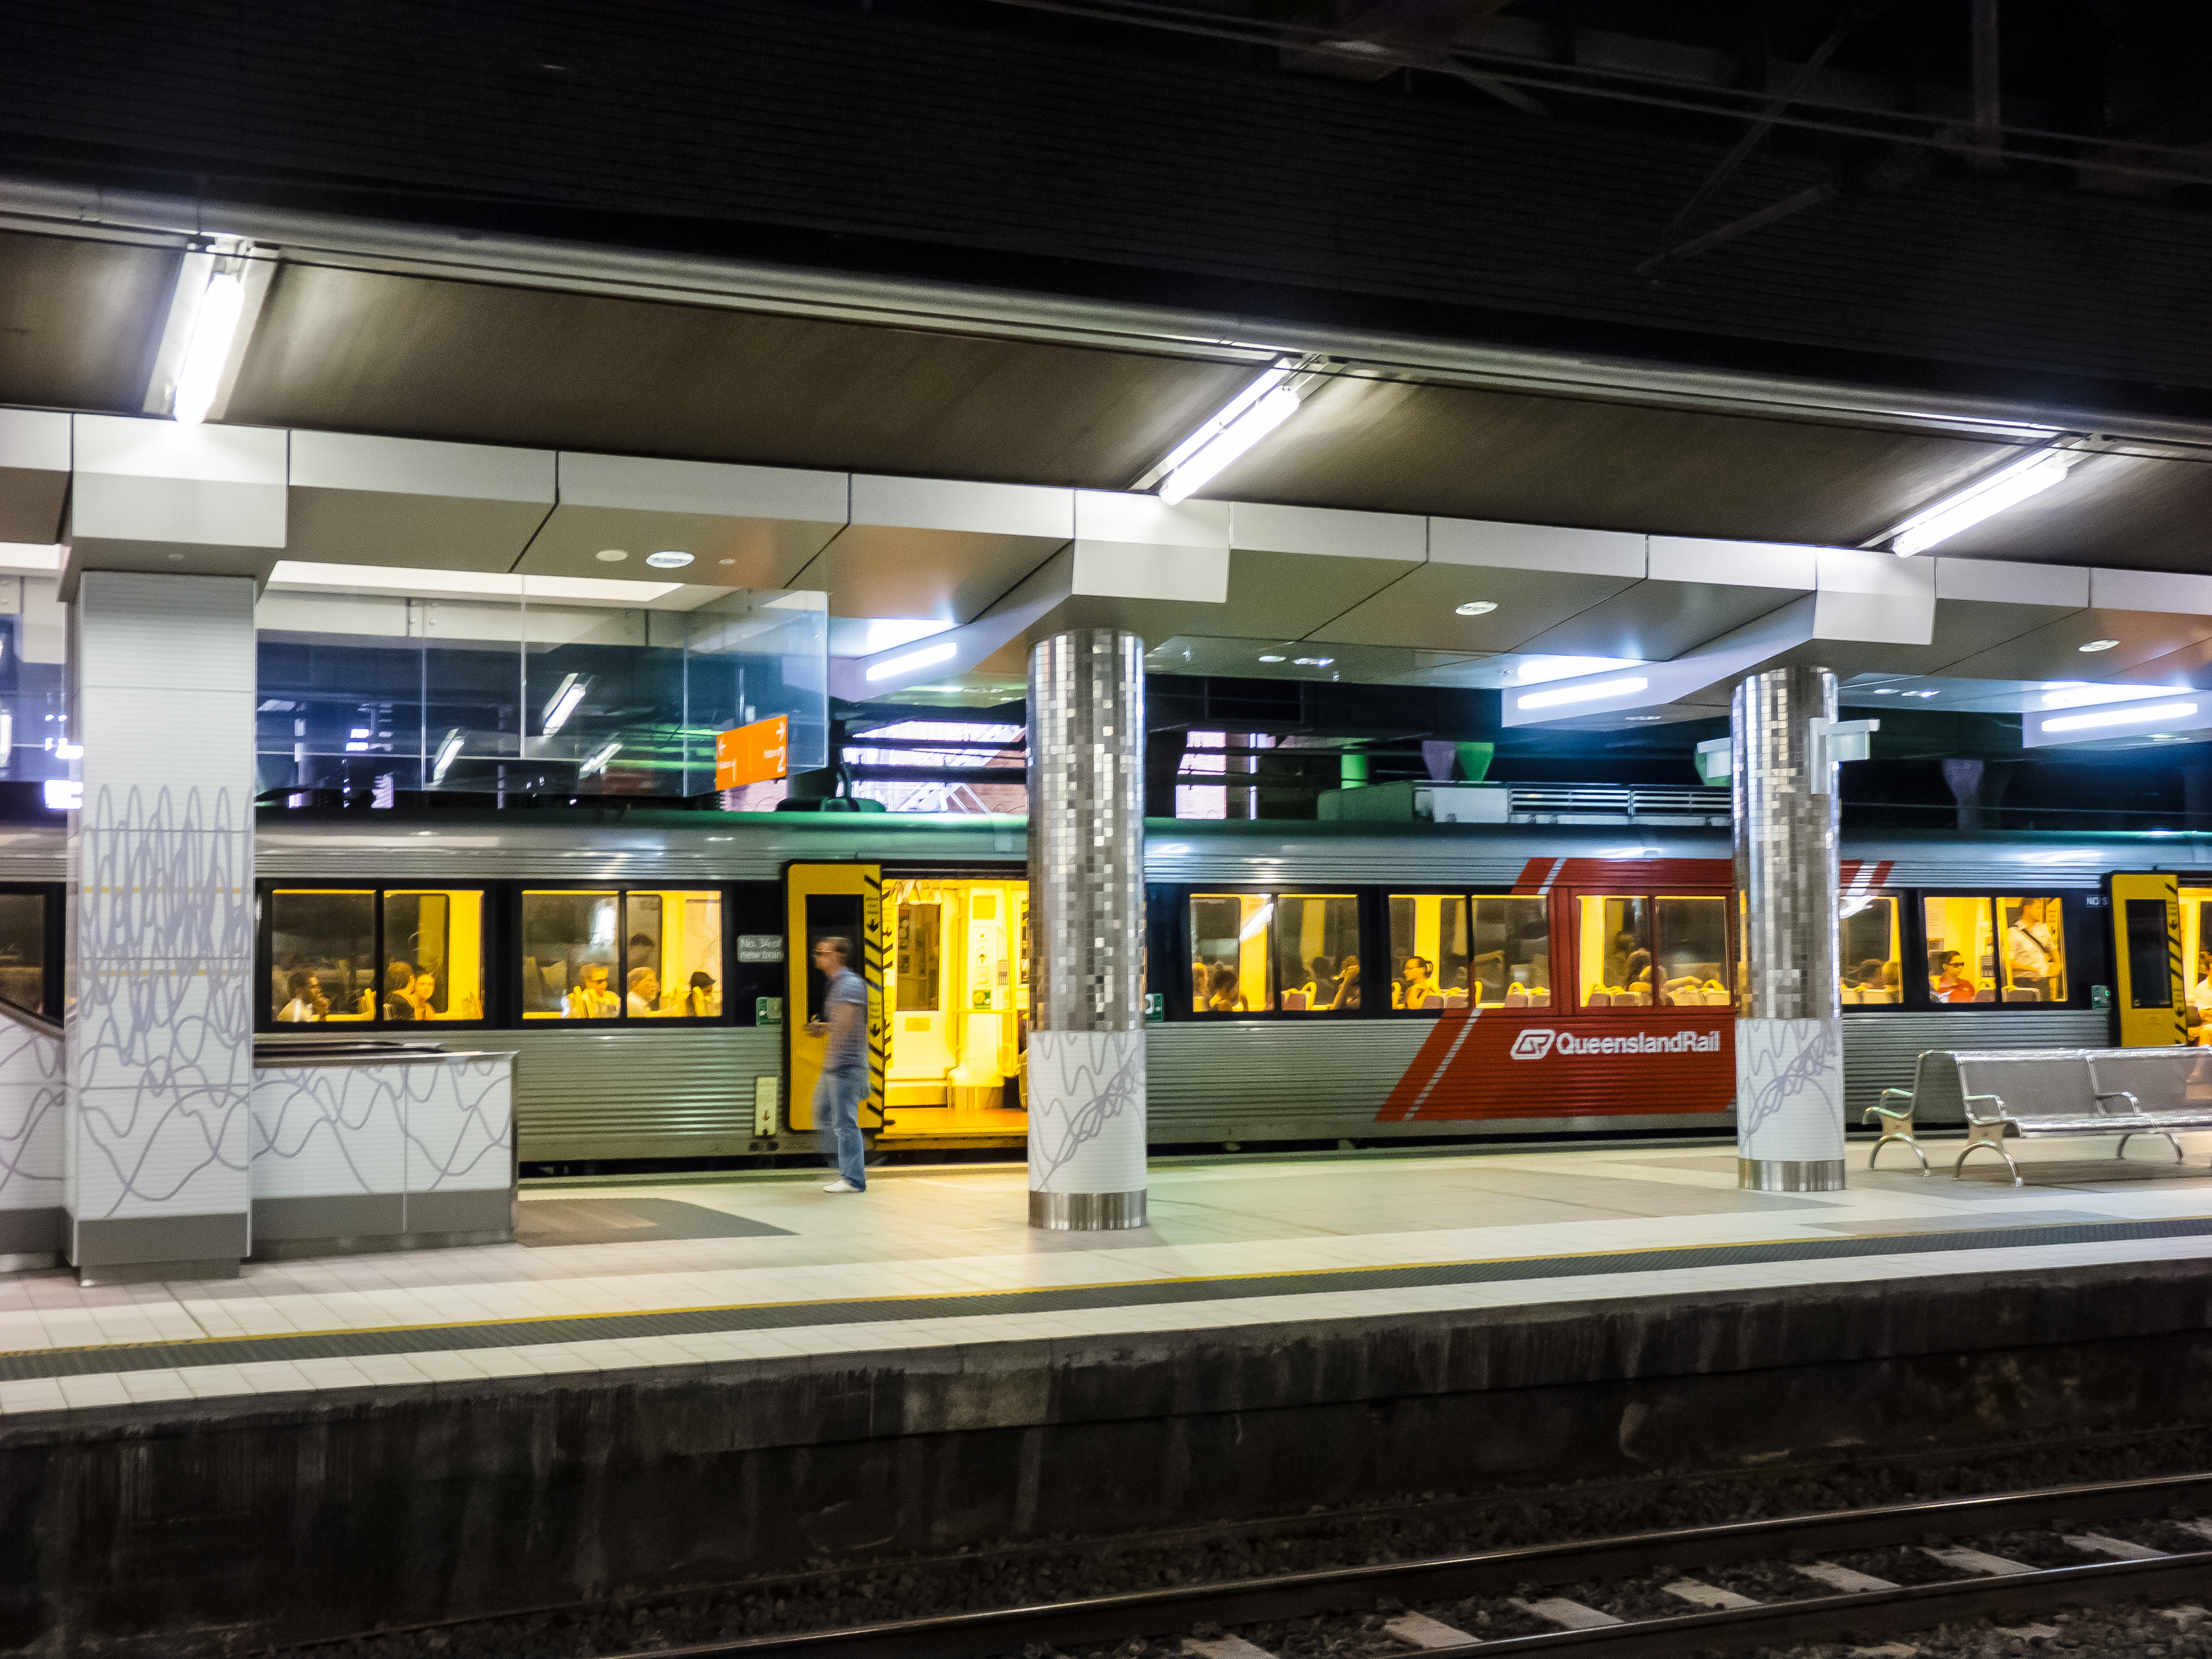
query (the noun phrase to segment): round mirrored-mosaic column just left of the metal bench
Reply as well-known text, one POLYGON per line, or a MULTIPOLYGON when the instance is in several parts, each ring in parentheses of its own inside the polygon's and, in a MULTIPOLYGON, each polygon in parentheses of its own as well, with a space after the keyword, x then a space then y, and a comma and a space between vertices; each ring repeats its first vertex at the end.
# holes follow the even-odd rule
POLYGON ((1761 1192, 1843 1186, 1834 719, 1827 668, 1736 686, 1736 1186, 1761 1192))

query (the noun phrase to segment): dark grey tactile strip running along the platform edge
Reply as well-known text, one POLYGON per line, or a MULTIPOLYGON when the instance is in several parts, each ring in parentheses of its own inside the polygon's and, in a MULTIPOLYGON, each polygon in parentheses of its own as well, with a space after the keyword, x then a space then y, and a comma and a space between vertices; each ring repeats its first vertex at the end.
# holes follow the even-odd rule
POLYGON ((1343 1267, 1332 1272, 1252 1274, 1228 1279, 1166 1279, 1130 1285, 1068 1285, 1064 1290, 1002 1290, 967 1296, 876 1296, 818 1303, 741 1303, 677 1307, 657 1314, 584 1314, 577 1318, 518 1318, 476 1325, 405 1325, 358 1332, 283 1336, 212 1336, 197 1343, 113 1343, 0 1354, 0 1383, 42 1376, 104 1376, 113 1371, 248 1365, 254 1360, 356 1358, 363 1354, 442 1354, 469 1347, 535 1347, 540 1343, 597 1343, 626 1336, 699 1336, 708 1332, 774 1332, 807 1325, 867 1325, 907 1318, 978 1318, 991 1314, 1060 1314, 1091 1307, 1155 1307, 1161 1303, 1243 1301, 1252 1296, 1312 1296, 1327 1292, 1407 1290, 1420 1285, 1495 1285, 1524 1279, 1590 1279, 1597 1274, 1674 1272, 1681 1267, 1741 1267, 1774 1261, 1838 1261, 1854 1256, 1916 1256, 1964 1250, 2031 1250, 2068 1243, 2132 1243, 2201 1239, 2212 1217, 2185 1221, 2099 1221, 2064 1228, 1973 1228, 1966 1232, 1885 1234, 1878 1239, 1785 1239, 1745 1245, 1688 1245, 1683 1250, 1628 1250, 1590 1256, 1522 1256, 1500 1261, 1438 1261, 1407 1267, 1343 1267))

